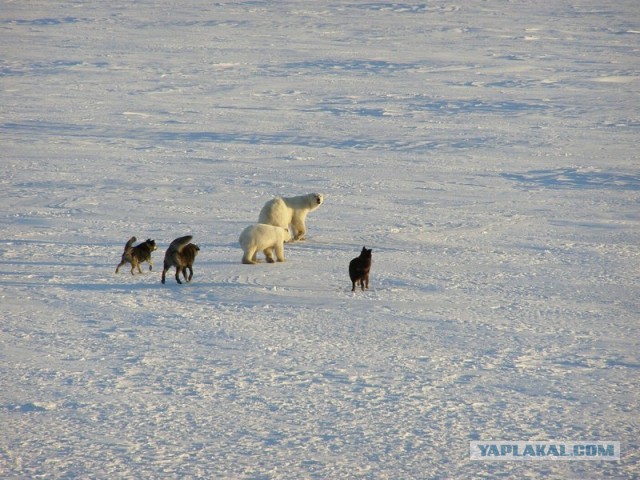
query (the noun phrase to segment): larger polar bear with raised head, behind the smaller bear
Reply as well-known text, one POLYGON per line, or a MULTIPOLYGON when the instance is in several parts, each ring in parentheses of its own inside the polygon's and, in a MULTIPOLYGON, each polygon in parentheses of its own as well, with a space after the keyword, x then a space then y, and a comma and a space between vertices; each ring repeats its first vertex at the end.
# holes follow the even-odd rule
POLYGON ((288 228, 294 240, 304 240, 307 227, 304 220, 307 213, 314 211, 324 202, 321 193, 308 193, 297 197, 276 197, 264 204, 258 222, 276 227, 288 228))

